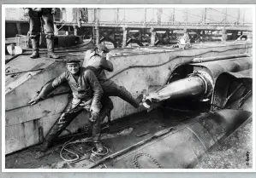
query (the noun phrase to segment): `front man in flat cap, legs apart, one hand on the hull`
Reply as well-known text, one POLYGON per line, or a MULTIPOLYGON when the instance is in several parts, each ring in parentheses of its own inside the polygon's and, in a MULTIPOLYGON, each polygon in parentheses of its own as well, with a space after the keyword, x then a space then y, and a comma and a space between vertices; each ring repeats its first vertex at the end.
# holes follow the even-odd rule
POLYGON ((98 83, 98 79, 94 73, 84 67, 80 67, 80 60, 68 59, 67 71, 63 72, 59 77, 53 81, 45 84, 44 88, 40 91, 39 95, 28 103, 30 105, 36 104, 39 100, 44 100, 53 89, 62 83, 68 82, 72 93, 72 100, 68 101, 63 114, 53 124, 48 134, 45 136, 45 141, 41 147, 41 151, 45 152, 52 141, 57 139, 58 135, 63 132, 69 123, 80 114, 83 110, 91 113, 89 118, 92 123, 92 141, 94 142, 98 152, 103 151, 103 146, 100 141, 100 118, 102 107, 100 100, 103 95, 103 89, 98 83))

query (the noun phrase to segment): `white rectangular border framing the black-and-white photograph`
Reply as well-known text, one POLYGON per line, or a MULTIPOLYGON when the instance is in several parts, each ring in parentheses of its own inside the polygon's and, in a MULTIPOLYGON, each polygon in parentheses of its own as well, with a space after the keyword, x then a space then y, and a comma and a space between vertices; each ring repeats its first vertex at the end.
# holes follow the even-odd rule
POLYGON ((2 171, 3 172, 255 172, 255 95, 252 169, 6 169, 5 168, 5 9, 7 8, 247 8, 253 11, 253 90, 255 89, 255 4, 2 4, 2 171))

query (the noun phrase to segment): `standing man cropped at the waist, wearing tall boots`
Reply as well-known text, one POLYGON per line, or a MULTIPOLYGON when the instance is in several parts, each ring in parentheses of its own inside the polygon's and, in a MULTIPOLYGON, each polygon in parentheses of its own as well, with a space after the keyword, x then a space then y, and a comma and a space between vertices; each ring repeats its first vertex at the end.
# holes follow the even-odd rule
POLYGON ((33 53, 30 58, 39 57, 39 37, 41 26, 44 26, 47 43, 48 57, 57 59, 58 55, 54 53, 54 26, 53 14, 55 8, 25 8, 24 15, 29 16, 29 35, 33 47, 33 53))

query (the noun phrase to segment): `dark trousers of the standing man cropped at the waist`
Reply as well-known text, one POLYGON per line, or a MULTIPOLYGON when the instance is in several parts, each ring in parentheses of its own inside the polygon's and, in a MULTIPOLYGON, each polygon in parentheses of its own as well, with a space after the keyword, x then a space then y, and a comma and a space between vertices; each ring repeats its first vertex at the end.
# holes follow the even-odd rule
POLYGON ((45 36, 48 39, 54 37, 53 15, 51 11, 29 13, 29 34, 35 38, 40 36, 41 26, 44 26, 45 36))

